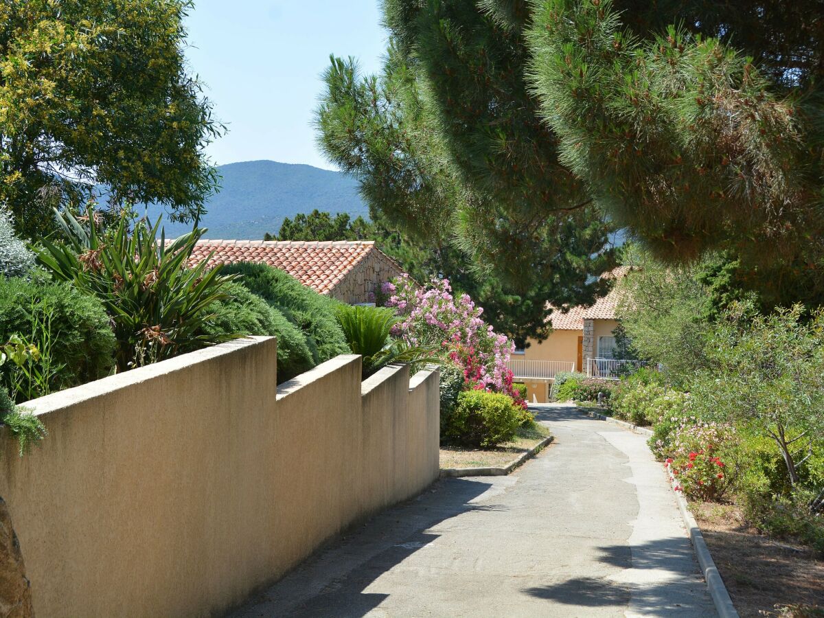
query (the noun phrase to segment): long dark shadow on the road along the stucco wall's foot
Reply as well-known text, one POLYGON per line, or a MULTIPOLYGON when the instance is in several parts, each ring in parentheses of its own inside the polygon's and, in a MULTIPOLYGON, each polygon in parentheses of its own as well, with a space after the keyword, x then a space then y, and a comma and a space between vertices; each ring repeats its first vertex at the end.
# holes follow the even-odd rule
POLYGON ((362 526, 303 562, 227 618, 365 616, 388 595, 364 592, 377 578, 438 538, 427 532, 472 511, 507 510, 502 504, 476 504, 492 481, 443 479, 417 499, 372 517, 362 526))

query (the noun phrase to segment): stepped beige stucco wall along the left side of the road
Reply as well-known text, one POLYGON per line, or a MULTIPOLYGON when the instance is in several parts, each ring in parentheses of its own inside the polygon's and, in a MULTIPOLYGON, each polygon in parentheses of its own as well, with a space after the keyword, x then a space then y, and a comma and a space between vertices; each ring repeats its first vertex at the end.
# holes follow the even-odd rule
POLYGON ((340 356, 277 385, 274 339, 186 354, 30 402, 4 441, 40 616, 207 616, 438 475, 438 375, 363 385, 340 356))

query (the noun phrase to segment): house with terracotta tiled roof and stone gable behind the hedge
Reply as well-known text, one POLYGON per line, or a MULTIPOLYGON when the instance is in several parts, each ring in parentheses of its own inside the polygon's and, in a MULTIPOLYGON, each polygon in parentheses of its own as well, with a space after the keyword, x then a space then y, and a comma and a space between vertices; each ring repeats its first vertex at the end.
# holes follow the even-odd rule
POLYGON ((285 270, 307 288, 357 305, 404 274, 374 241, 198 241, 190 264, 253 262, 285 270))

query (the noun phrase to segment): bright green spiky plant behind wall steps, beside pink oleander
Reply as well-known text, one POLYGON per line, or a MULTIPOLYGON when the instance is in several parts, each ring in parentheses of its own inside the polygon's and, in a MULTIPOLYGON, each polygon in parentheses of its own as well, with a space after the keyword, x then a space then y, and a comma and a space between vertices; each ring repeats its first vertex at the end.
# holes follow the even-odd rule
POLYGON ((349 349, 363 357, 363 377, 391 363, 440 363, 434 349, 412 346, 391 335, 400 318, 384 307, 339 305, 335 310, 349 349))

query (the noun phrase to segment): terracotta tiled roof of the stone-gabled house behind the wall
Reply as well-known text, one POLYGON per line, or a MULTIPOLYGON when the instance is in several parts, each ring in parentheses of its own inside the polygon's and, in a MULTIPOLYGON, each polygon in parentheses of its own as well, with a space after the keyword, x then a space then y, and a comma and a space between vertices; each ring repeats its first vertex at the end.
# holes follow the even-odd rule
MULTIPOLYGON (((285 270, 303 285, 321 294, 329 293, 372 251, 382 252, 375 241, 198 241, 189 263, 209 260, 213 264, 256 262, 285 270)), ((388 256, 386 260, 390 258, 388 256)))

